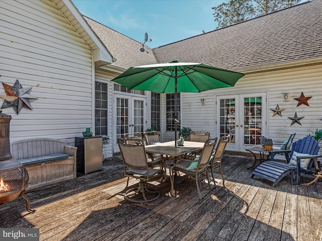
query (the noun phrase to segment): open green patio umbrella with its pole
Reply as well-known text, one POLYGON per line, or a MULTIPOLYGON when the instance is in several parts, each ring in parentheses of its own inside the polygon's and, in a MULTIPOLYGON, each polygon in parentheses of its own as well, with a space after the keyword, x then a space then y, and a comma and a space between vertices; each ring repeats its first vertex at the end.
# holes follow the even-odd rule
MULTIPOLYGON (((112 81, 129 89, 175 93, 175 140, 177 139, 177 93, 202 92, 234 86, 245 74, 201 63, 150 64, 130 67, 112 81)), ((177 142, 176 146, 177 146, 177 142)))

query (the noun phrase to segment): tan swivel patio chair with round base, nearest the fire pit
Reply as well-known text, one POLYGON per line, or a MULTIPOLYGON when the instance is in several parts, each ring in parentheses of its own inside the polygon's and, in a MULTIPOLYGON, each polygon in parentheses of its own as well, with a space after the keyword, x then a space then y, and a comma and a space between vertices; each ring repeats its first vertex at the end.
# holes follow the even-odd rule
POLYGON ((149 167, 150 163, 147 162, 142 140, 132 139, 131 141, 132 144, 127 144, 126 139, 119 138, 117 141, 123 160, 124 176, 128 177, 126 188, 130 177, 140 180, 138 185, 126 190, 124 199, 135 203, 152 202, 160 196, 160 192, 148 182, 164 178, 165 172, 163 169, 149 167), (139 193, 142 194, 143 199, 137 199, 136 196, 139 193))

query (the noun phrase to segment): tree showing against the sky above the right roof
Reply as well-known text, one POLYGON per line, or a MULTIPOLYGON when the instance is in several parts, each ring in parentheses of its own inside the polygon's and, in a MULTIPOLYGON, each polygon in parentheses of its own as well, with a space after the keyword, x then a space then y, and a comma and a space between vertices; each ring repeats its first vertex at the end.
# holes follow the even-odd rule
POLYGON ((253 17, 296 5, 301 0, 229 0, 213 7, 218 28, 249 20, 253 17))

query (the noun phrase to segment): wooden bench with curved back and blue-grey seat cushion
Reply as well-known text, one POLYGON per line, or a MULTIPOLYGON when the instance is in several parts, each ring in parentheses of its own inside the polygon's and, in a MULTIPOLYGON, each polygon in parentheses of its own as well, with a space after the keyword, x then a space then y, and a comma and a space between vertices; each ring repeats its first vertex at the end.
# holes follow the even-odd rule
POLYGON ((13 158, 27 169, 26 190, 58 183, 76 177, 76 147, 54 139, 29 139, 10 145, 13 158))

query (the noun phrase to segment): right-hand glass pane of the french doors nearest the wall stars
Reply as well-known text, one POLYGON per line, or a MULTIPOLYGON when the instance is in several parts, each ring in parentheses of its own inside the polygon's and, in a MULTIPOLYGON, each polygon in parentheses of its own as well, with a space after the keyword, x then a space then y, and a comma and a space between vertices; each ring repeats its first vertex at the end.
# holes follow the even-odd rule
POLYGON ((260 145, 262 97, 244 98, 244 144, 260 145))

